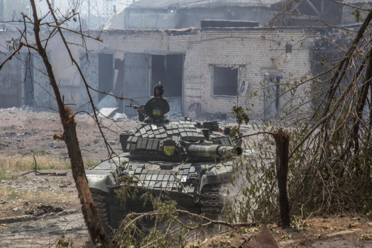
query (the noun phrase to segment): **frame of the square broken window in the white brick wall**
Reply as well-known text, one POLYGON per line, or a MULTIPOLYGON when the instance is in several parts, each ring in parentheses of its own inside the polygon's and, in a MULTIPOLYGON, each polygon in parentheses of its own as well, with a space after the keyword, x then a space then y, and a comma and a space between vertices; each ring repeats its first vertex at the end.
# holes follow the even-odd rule
MULTIPOLYGON (((217 97, 238 97, 239 96, 239 90, 240 90, 240 87, 241 87, 241 82, 244 81, 245 79, 243 78, 242 79, 242 71, 243 69, 245 70, 246 68, 246 65, 215 65, 215 64, 211 64, 210 65, 211 67, 211 93, 212 93, 212 96, 217 96, 217 97), (215 70, 216 68, 228 68, 230 70, 238 70, 237 71, 237 77, 236 77, 236 92, 234 95, 232 94, 218 94, 219 92, 216 92, 215 90, 215 87, 216 87, 216 83, 215 82, 215 70)), ((223 86, 226 86, 226 87, 231 87, 232 85, 223 85, 223 86)))

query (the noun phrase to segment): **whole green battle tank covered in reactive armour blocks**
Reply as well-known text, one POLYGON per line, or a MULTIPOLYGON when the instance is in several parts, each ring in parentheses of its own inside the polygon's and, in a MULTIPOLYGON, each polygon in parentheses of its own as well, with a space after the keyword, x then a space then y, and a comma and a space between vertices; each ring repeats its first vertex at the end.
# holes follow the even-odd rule
POLYGON ((187 117, 170 122, 164 117, 169 104, 162 97, 132 107, 144 118, 134 130, 120 134, 123 153, 86 170, 106 231, 118 228, 129 212, 153 210, 144 192, 167 195, 182 209, 218 219, 234 157, 243 153, 241 141, 230 138, 230 129, 222 130, 217 122, 187 117), (131 177, 130 185, 119 183, 125 176, 131 177), (116 195, 123 186, 136 192, 125 204, 116 195))

